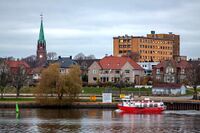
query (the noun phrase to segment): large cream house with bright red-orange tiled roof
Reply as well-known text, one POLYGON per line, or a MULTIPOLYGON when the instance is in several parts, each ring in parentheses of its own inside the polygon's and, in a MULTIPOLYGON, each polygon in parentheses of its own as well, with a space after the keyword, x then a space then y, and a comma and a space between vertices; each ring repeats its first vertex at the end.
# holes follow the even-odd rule
POLYGON ((120 81, 140 84, 144 69, 128 57, 106 56, 88 69, 88 83, 117 83, 120 81))

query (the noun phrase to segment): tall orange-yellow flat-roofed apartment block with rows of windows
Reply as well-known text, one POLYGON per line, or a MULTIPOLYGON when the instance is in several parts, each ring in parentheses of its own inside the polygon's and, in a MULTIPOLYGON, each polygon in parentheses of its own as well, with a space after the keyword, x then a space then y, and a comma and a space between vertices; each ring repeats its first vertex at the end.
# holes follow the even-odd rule
POLYGON ((118 36, 113 37, 113 55, 128 55, 134 52, 139 54, 139 61, 159 62, 180 56, 179 35, 151 34, 143 36, 118 36))

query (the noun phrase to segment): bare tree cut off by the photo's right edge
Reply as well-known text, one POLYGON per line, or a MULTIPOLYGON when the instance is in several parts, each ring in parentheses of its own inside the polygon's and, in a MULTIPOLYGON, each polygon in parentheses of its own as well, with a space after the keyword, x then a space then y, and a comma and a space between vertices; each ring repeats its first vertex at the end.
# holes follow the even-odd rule
POLYGON ((193 99, 197 99, 197 86, 200 84, 200 62, 191 62, 190 67, 186 70, 188 84, 193 86, 193 99))

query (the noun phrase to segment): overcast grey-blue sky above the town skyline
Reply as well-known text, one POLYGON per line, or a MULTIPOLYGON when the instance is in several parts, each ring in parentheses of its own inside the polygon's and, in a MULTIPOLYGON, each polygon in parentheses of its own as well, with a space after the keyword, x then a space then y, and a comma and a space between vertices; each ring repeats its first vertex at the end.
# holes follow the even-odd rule
POLYGON ((112 54, 112 37, 173 32, 181 55, 200 57, 200 0, 0 0, 0 57, 36 54, 40 14, 47 51, 112 54))

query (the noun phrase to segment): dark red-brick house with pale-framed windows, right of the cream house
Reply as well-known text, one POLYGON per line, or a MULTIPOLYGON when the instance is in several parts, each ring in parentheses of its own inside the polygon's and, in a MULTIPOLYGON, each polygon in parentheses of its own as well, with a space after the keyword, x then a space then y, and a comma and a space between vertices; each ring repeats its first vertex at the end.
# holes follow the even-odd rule
POLYGON ((185 83, 187 81, 186 71, 189 63, 185 60, 162 61, 153 69, 154 83, 185 83))

